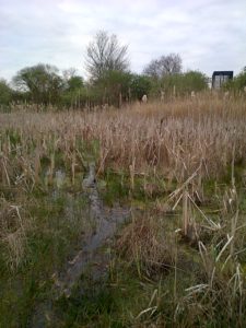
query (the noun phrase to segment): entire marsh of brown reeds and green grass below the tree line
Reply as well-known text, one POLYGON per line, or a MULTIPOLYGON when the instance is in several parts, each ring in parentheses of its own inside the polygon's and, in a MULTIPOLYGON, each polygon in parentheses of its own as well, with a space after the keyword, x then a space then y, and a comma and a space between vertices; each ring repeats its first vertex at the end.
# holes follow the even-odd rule
POLYGON ((204 92, 0 114, 0 327, 243 327, 245 113, 204 92))

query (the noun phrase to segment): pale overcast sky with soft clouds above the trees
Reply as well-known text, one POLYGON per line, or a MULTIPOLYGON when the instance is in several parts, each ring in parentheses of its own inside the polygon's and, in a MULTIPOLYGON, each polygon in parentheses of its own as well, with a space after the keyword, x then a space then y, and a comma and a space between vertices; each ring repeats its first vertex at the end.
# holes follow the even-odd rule
POLYGON ((246 66, 246 0, 0 0, 0 78, 38 62, 84 77, 98 30, 128 45, 134 72, 169 52, 208 75, 246 66))

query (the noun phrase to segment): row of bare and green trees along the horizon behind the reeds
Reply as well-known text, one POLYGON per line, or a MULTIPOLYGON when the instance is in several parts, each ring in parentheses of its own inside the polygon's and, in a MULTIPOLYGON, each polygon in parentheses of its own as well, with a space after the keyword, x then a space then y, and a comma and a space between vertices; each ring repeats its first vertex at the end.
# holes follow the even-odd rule
MULTIPOLYGON (((163 55, 151 60, 141 74, 130 71, 127 46, 116 35, 99 31, 87 45, 85 81, 75 69, 59 73, 47 63, 25 67, 12 79, 11 85, 0 80, 0 105, 32 103, 63 108, 102 106, 120 107, 124 103, 148 97, 171 97, 208 89, 208 78, 200 71, 181 70, 178 54, 163 55)), ((246 85, 246 71, 230 81, 226 89, 234 92, 246 85)))

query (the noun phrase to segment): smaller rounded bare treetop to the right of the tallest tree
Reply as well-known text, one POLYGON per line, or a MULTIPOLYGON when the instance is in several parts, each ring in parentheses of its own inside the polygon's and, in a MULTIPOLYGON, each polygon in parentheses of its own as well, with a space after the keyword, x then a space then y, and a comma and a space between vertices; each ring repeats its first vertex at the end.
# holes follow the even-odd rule
POLYGON ((153 59, 143 70, 143 73, 153 78, 181 72, 181 58, 178 54, 169 54, 153 59))

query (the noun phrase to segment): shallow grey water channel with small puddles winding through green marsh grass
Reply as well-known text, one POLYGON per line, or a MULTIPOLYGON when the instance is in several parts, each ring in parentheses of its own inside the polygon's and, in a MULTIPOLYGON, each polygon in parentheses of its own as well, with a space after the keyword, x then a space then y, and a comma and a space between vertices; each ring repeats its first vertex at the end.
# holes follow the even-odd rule
MULTIPOLYGON (((61 172, 56 174, 58 189, 63 185, 66 175, 61 172)), ((81 249, 65 263, 61 272, 56 272, 54 297, 43 304, 39 304, 34 313, 30 327, 47 327, 49 318, 52 317, 52 303, 62 295, 69 297, 72 288, 80 280, 80 277, 86 272, 92 281, 103 280, 107 274, 107 267, 110 260, 109 254, 102 251, 102 247, 113 239, 117 229, 130 218, 130 210, 116 206, 107 209, 99 197, 94 164, 90 165, 87 176, 82 181, 83 194, 85 194, 89 207, 84 210, 89 224, 93 229, 89 230, 86 235, 82 236, 81 249)), ((56 191, 54 197, 57 197, 56 191)), ((83 195, 84 196, 84 195, 83 195)), ((75 219, 78 213, 74 211, 74 200, 70 199, 66 208, 68 220, 75 219)), ((81 289, 83 293, 83 288, 81 289)))

